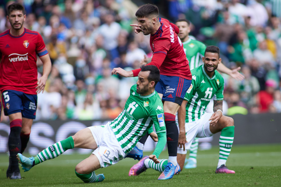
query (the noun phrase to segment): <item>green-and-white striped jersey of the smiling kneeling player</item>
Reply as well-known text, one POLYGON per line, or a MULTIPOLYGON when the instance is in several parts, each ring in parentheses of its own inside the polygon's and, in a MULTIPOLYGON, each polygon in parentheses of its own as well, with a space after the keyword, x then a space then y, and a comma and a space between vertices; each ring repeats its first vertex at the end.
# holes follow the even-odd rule
POLYGON ((192 82, 184 98, 188 101, 185 122, 200 119, 206 112, 211 98, 214 98, 214 100, 224 99, 224 79, 217 70, 215 70, 213 77, 210 78, 205 72, 204 65, 201 65, 191 70, 191 74, 192 82))

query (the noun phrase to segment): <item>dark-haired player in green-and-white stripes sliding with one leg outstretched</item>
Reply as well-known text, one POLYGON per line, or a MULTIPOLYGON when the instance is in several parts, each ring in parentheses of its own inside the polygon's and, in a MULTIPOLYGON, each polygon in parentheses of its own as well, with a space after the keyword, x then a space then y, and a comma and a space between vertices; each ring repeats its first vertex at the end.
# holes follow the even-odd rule
POLYGON ((106 125, 82 129, 74 136, 47 147, 35 157, 27 158, 19 153, 17 159, 23 170, 28 171, 34 165, 53 159, 74 147, 93 149, 88 158, 76 165, 75 173, 86 183, 101 182, 105 177, 103 174, 96 175, 95 170, 122 160, 147 132, 152 139, 158 140, 149 158, 159 163, 158 156, 166 144, 163 104, 155 91, 159 80, 160 72, 156 66, 142 66, 137 84, 131 87, 125 108, 115 120, 106 125), (157 135, 153 132, 153 124, 157 135))

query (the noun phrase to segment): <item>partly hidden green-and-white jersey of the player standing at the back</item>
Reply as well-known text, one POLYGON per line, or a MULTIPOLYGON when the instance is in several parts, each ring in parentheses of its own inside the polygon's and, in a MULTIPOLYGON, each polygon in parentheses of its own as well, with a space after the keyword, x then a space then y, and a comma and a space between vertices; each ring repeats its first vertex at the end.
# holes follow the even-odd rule
POLYGON ((189 61, 190 70, 197 68, 203 64, 202 56, 205 54, 206 46, 200 41, 192 40, 182 42, 186 54, 186 58, 189 61))

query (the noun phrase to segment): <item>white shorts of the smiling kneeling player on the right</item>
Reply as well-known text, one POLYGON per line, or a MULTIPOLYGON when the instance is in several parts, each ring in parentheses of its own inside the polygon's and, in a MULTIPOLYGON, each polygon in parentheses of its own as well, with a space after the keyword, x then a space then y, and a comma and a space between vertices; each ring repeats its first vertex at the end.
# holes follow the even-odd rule
POLYGON ((204 113, 200 119, 194 121, 185 123, 185 137, 187 143, 185 143, 185 151, 183 150, 183 147, 178 147, 177 153, 179 154, 186 154, 187 150, 190 149, 190 146, 194 140, 194 138, 204 138, 204 137, 210 137, 214 134, 210 131, 210 121, 213 113, 204 113))

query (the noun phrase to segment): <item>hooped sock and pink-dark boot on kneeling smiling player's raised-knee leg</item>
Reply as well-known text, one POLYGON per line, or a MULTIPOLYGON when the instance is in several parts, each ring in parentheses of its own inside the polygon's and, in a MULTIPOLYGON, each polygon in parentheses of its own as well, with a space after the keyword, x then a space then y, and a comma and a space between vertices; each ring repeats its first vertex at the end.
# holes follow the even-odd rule
POLYGON ((219 163, 216 169, 216 173, 235 173, 234 170, 229 170, 226 166, 226 160, 231 151, 232 143, 234 139, 234 126, 224 127, 221 130, 219 137, 219 163))

